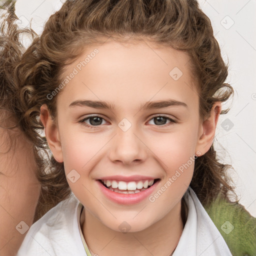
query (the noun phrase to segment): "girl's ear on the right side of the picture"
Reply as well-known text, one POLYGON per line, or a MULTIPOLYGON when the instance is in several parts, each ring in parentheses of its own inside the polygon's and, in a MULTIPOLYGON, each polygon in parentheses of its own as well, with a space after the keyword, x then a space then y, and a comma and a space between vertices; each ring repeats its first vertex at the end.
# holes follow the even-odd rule
POLYGON ((198 140, 195 148, 195 154, 198 156, 205 154, 213 142, 220 111, 221 102, 215 102, 211 108, 209 117, 203 120, 200 124, 200 133, 198 134, 198 140), (200 152, 200 154, 198 154, 198 152, 200 152))

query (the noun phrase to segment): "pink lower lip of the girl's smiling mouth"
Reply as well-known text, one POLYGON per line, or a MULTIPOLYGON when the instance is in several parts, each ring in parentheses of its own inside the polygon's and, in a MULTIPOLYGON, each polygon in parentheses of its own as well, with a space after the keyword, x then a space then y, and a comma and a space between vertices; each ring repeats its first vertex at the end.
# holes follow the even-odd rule
POLYGON ((114 192, 106 188, 99 180, 96 180, 96 182, 99 184, 99 187, 103 194, 112 201, 118 204, 134 204, 147 198, 153 192, 159 180, 157 180, 153 185, 151 185, 147 189, 133 194, 122 194, 114 192))

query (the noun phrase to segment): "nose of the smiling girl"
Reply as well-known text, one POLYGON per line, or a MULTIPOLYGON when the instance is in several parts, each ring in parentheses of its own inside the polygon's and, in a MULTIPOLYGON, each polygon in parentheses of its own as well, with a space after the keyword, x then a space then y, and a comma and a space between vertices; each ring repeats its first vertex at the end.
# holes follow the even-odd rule
POLYGON ((109 159, 124 165, 143 162, 147 157, 147 147, 135 125, 126 131, 117 127, 116 132, 109 148, 109 159))

